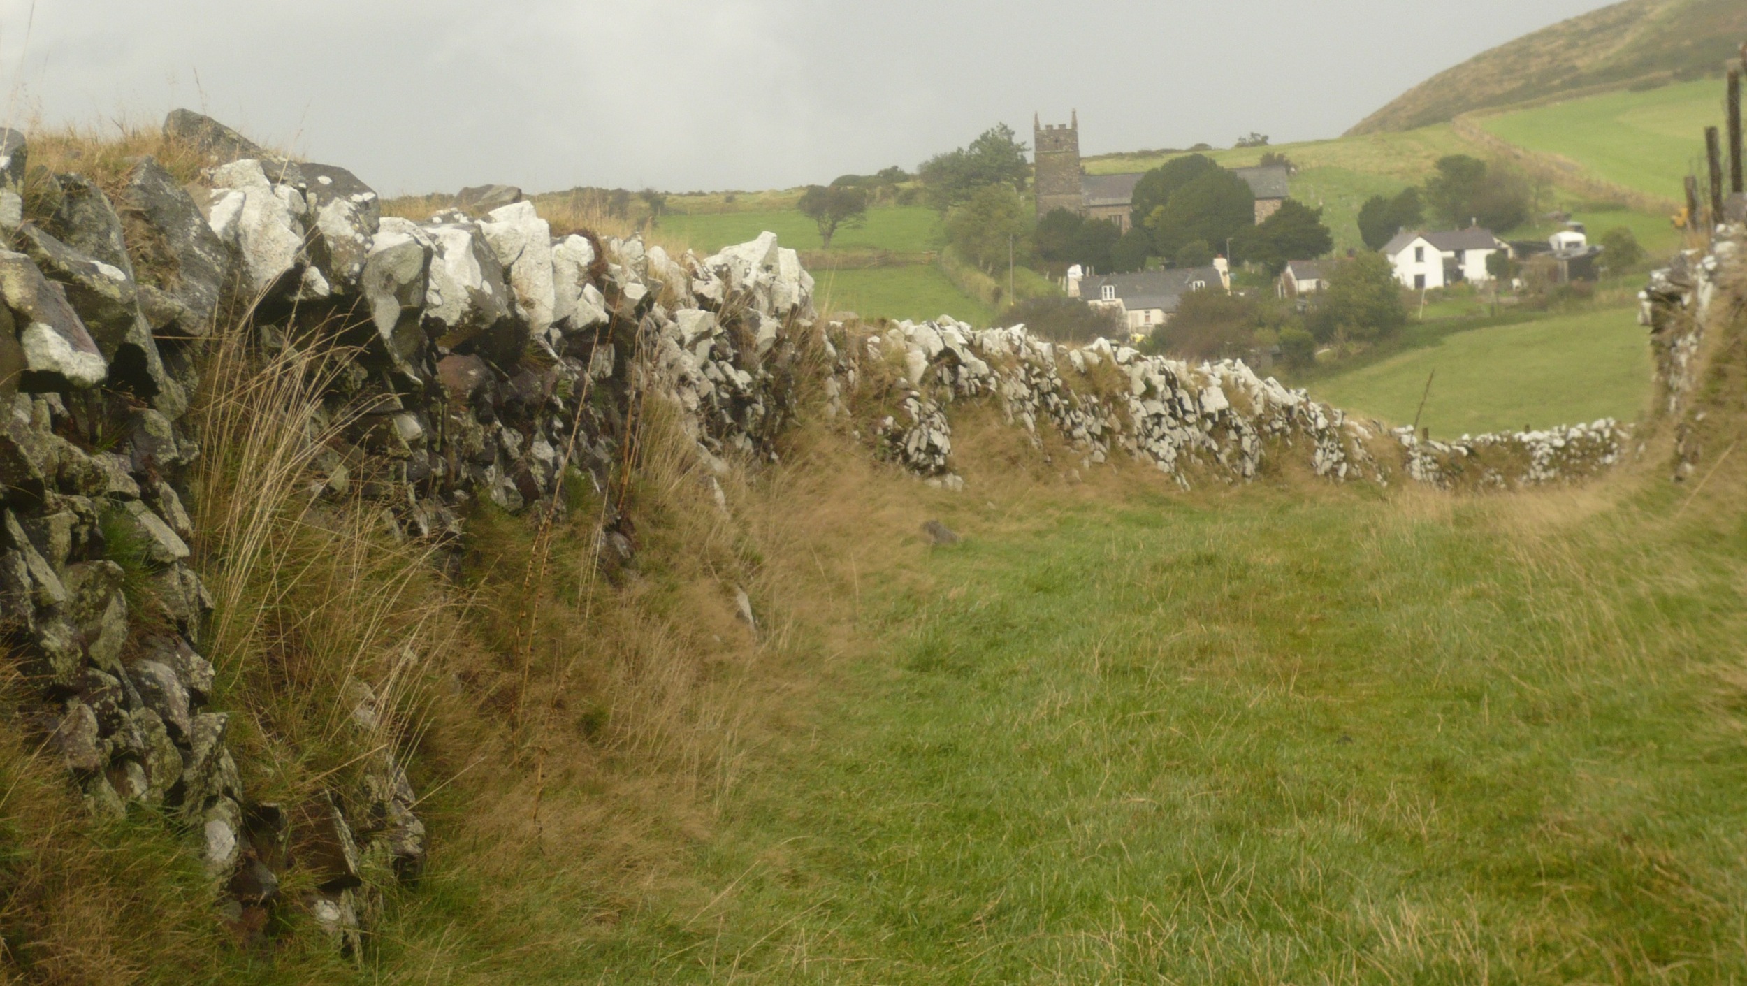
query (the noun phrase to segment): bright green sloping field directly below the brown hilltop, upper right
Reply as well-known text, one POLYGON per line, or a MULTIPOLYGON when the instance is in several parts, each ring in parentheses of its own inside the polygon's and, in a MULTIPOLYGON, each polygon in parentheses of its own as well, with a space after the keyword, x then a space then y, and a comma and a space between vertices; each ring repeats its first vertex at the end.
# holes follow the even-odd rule
MULTIPOLYGON (((1600 178, 1677 199, 1705 156, 1705 126, 1723 124, 1716 79, 1647 93, 1607 93, 1483 117, 1480 126, 1518 147, 1560 154, 1600 178)), ((1703 166, 1696 170, 1703 173, 1703 166)))

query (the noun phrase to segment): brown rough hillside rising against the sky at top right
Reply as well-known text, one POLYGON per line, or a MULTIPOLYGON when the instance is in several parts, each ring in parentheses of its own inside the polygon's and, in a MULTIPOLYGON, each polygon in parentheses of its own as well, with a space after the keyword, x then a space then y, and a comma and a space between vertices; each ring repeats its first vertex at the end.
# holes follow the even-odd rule
POLYGON ((1747 2, 1626 0, 1478 54, 1347 133, 1413 129, 1560 93, 1698 79, 1719 72, 1742 40, 1747 2))

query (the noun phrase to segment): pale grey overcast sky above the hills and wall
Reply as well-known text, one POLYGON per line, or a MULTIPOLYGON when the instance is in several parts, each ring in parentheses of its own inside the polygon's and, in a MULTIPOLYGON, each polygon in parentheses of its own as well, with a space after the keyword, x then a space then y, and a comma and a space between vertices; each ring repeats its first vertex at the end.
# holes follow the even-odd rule
POLYGON ((767 189, 1080 110, 1087 154, 1336 136, 1602 0, 0 0, 10 115, 204 108, 386 194, 767 189))

